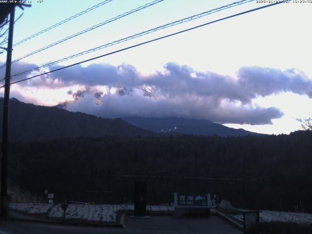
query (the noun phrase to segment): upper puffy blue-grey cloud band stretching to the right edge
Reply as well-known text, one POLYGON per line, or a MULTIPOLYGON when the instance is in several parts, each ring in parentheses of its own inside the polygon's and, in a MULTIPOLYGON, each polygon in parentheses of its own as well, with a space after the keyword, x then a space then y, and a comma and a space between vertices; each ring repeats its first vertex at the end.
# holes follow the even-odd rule
MULTIPOLYGON (((20 63, 21 66, 26 66, 20 63)), ((33 66, 34 64, 27 65, 33 66)), ((50 70, 60 68, 50 67, 50 70)), ((168 97, 181 94, 198 95, 214 98, 228 98, 249 103, 257 96, 269 96, 280 92, 292 92, 308 95, 312 98, 312 80, 302 71, 294 68, 280 69, 245 66, 238 70, 237 78, 216 74, 214 72, 198 72, 187 65, 169 62, 164 66, 165 72, 157 71, 143 77, 134 66, 121 64, 91 64, 87 67, 79 65, 48 74, 43 78, 29 81, 31 86, 69 86, 73 84, 85 86, 106 85, 131 89, 141 85, 154 86, 168 97)), ((22 70, 22 69, 20 69, 22 70)), ((154 90, 154 91, 155 91, 154 90)))

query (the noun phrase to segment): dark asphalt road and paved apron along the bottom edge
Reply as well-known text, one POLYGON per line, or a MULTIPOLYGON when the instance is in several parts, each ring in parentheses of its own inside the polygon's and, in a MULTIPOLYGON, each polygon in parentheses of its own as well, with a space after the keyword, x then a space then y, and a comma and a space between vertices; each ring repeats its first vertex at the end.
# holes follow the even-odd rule
POLYGON ((209 219, 177 219, 167 216, 127 218, 126 225, 126 228, 102 228, 3 221, 0 223, 0 234, 242 234, 215 216, 209 219))

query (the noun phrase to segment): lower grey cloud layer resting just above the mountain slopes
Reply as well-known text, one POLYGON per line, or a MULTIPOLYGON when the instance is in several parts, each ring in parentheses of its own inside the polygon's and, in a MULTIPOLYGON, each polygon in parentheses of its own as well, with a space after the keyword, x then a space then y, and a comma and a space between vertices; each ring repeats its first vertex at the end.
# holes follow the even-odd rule
POLYGON ((144 95, 104 94, 101 102, 94 101, 94 95, 88 94, 73 102, 68 102, 66 109, 83 111, 102 117, 186 117, 210 119, 220 123, 272 124, 273 118, 280 118, 283 113, 277 108, 215 105, 210 98, 198 99, 196 96, 175 98, 147 98, 144 95))

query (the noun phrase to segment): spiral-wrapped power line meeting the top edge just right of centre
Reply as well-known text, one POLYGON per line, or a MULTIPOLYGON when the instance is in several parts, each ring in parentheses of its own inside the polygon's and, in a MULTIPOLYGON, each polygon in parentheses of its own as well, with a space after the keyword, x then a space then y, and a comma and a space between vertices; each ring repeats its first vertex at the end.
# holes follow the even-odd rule
MULTIPOLYGON (((105 21, 103 21, 103 22, 101 22, 101 23, 98 23, 98 24, 96 24, 96 25, 93 25, 92 27, 89 27, 89 28, 87 28, 87 29, 84 29, 84 30, 82 30, 82 31, 80 31, 80 32, 78 32, 78 33, 75 33, 75 34, 73 34, 73 35, 71 35, 71 36, 68 36, 68 37, 66 37, 66 38, 60 39, 60 40, 58 40, 58 41, 56 41, 56 42, 53 42, 52 44, 49 44, 49 45, 44 46, 44 47, 42 47, 42 48, 40 48, 40 49, 38 49, 38 50, 35 50, 35 51, 33 51, 33 52, 31 52, 31 53, 29 53, 29 54, 27 54, 27 55, 24 55, 24 56, 22 56, 22 57, 20 57, 20 58, 18 58, 18 59, 14 59, 14 60, 12 61, 12 63, 17 62, 17 61, 19 61, 19 60, 21 60, 21 59, 24 59, 24 58, 26 58, 26 57, 29 57, 29 56, 31 56, 31 55, 37 54, 37 53, 39 53, 40 51, 43 51, 43 50, 48 49, 48 48, 50 48, 50 47, 52 47, 52 46, 58 45, 59 43, 62 43, 62 42, 64 42, 64 41, 68 40, 68 39, 72 39, 72 38, 77 37, 77 36, 79 36, 79 35, 81 35, 81 34, 83 34, 83 33, 89 32, 89 31, 91 31, 91 30, 93 30, 93 29, 96 29, 96 28, 98 28, 98 27, 100 27, 100 26, 103 26, 104 24, 107 24, 107 23, 110 23, 110 22, 112 22, 112 21, 118 20, 118 19, 120 19, 120 18, 122 18, 122 17, 128 16, 128 15, 130 15, 130 14, 132 14, 132 13, 135 13, 135 12, 137 12, 137 11, 140 11, 140 10, 142 10, 142 9, 145 9, 145 8, 147 8, 147 7, 149 7, 149 6, 153 6, 153 5, 155 5, 156 3, 161 2, 161 1, 163 1, 163 0, 154 0, 154 1, 152 1, 152 2, 149 2, 149 3, 145 4, 145 5, 139 6, 139 7, 137 7, 136 9, 132 9, 131 11, 128 11, 128 12, 125 12, 125 13, 123 13, 123 14, 121 14, 121 15, 118 15, 118 16, 116 16, 116 17, 113 17, 113 18, 110 19, 110 20, 105 20, 105 21)), ((5 67, 5 64, 3 64, 2 66, 0 66, 0 68, 2 68, 2 67, 5 67)))

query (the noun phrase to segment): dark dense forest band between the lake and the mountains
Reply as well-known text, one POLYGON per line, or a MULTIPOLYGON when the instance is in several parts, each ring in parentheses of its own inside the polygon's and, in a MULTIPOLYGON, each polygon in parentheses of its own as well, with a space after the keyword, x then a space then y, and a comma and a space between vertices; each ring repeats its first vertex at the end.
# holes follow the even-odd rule
MULTIPOLYGON (((10 144, 9 173, 203 176, 263 181, 261 199, 312 212, 312 131, 290 135, 76 137, 10 144), (270 186, 269 186, 270 184, 270 186), (274 191, 273 191, 273 190, 274 191)), ((260 199, 260 198, 259 198, 260 199)), ((276 208, 276 207, 275 207, 276 208)))

